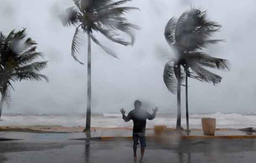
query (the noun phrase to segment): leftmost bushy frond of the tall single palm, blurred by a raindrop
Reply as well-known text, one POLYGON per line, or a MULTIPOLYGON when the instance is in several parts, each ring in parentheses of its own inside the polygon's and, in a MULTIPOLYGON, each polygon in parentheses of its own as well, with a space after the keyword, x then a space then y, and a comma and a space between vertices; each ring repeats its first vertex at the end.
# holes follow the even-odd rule
POLYGON ((60 20, 64 27, 76 25, 79 22, 78 10, 75 7, 69 7, 60 15, 60 20))

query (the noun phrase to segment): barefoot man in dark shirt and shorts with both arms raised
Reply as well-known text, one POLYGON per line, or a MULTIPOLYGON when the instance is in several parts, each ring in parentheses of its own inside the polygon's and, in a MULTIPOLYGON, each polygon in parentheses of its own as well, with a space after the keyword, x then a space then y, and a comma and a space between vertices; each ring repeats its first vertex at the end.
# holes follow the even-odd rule
POLYGON ((127 117, 125 116, 125 110, 123 108, 120 112, 123 115, 123 120, 128 122, 133 120, 133 152, 134 152, 134 159, 137 160, 137 145, 138 139, 141 143, 141 160, 143 160, 145 147, 146 147, 146 139, 145 139, 145 132, 146 132, 146 119, 153 120, 156 117, 156 113, 158 108, 156 107, 153 110, 153 114, 150 115, 146 110, 141 109, 142 103, 139 100, 134 102, 134 110, 129 112, 127 117))

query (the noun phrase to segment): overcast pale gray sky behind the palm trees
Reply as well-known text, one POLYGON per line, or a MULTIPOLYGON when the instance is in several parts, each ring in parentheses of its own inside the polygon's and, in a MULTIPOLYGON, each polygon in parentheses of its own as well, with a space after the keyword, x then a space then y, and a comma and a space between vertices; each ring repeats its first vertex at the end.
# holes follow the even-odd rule
MULTIPOLYGON (((163 31, 167 21, 180 16, 190 6, 208 10, 209 18, 223 27, 214 38, 225 43, 206 49, 212 56, 229 59, 230 72, 218 72, 221 84, 189 80, 190 112, 252 112, 256 105, 256 6, 255 0, 133 0, 126 5, 141 11, 127 14, 136 31, 136 43, 125 47, 97 35, 105 45, 115 49, 120 60, 108 56, 97 45, 92 46, 92 112, 130 110, 135 99, 144 107, 158 106, 160 112, 176 112, 176 96, 170 94, 162 79, 165 59, 171 53, 163 31), (161 49, 161 50, 160 50, 161 49), (165 52, 166 51, 166 52, 165 52)), ((57 14, 72 6, 72 0, 1 0, 0 30, 27 28, 28 36, 39 43, 39 51, 50 63, 42 73, 50 82, 13 84, 10 109, 19 113, 83 113, 86 105, 86 66, 71 57, 74 28, 64 28, 57 14)), ((79 58, 86 62, 86 36, 79 58)), ((185 89, 182 111, 185 111, 185 89)))

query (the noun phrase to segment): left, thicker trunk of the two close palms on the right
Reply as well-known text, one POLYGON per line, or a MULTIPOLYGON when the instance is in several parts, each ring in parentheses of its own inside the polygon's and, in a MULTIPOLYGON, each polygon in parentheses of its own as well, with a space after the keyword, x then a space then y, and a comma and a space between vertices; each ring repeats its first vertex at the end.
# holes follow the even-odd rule
POLYGON ((180 129, 181 127, 181 110, 180 110, 180 86, 181 86, 181 79, 180 79, 180 64, 178 64, 178 90, 177 90, 177 124, 176 129, 180 129))

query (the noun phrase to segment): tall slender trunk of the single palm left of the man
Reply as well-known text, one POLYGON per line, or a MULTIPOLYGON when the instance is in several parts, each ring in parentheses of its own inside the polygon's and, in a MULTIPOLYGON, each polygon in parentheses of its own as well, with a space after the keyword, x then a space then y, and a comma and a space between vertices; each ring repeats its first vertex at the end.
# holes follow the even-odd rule
POLYGON ((87 59, 87 110, 86 127, 84 131, 91 129, 91 33, 88 31, 88 59, 87 59))

